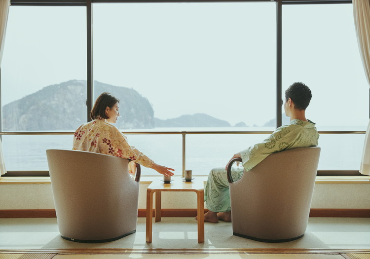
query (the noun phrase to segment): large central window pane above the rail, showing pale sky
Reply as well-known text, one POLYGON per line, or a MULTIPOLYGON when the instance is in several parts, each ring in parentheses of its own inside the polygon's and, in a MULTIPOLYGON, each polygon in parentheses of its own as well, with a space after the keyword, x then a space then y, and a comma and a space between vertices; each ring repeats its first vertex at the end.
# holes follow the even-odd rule
POLYGON ((95 3, 93 17, 94 80, 148 99, 154 123, 140 128, 251 130, 275 117, 275 3, 95 3))

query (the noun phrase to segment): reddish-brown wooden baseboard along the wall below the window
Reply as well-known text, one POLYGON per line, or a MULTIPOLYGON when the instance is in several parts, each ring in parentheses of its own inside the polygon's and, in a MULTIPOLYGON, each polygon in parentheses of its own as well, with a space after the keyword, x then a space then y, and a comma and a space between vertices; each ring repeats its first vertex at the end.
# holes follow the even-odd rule
MULTIPOLYGON (((205 210, 208 211, 208 210, 205 210)), ((197 214, 196 209, 162 209, 162 217, 192 218, 197 214)), ((138 210, 138 217, 146 217, 146 209, 138 210)), ((154 212, 153 212, 154 217, 154 212)), ((311 209, 310 217, 324 218, 370 218, 370 209, 311 209)), ((56 218, 54 209, 37 210, 0 210, 0 218, 56 218)))

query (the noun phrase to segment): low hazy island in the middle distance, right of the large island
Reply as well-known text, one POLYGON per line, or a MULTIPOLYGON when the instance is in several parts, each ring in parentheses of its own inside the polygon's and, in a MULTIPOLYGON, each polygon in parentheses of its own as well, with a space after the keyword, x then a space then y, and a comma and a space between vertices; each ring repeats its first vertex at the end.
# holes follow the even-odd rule
POLYGON ((163 127, 230 127, 230 123, 225 120, 214 118, 204 113, 195 113, 193 115, 182 115, 173 119, 154 118, 156 128, 163 127))

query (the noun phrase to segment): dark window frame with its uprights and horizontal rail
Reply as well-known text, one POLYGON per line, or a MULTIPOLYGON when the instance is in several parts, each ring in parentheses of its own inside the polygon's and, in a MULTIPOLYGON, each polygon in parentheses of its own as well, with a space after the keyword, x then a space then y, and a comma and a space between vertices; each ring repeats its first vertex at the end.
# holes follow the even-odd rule
MULTIPOLYGON (((259 2, 276 2, 276 128, 282 125, 282 5, 285 4, 350 4, 352 0, 259 0, 259 2)), ((86 44, 87 44, 87 121, 91 121, 90 111, 93 106, 93 52, 92 52, 92 4, 93 3, 163 3, 163 2, 256 2, 256 0, 11 0, 13 6, 86 6, 86 44)), ((0 70, 1 97, 1 70, 0 70)), ((370 89, 369 89, 370 100, 370 89)), ((1 99, 0 99, 1 114, 1 99)), ((369 105, 370 115, 370 105, 369 105)), ((270 131, 156 131, 125 132, 126 135, 179 134, 182 135, 183 168, 185 171, 186 135, 191 134, 271 134, 270 131)), ((365 134, 366 131, 319 131, 320 134, 365 134)), ((0 138, 3 135, 73 135, 74 132, 3 132, 0 119, 0 138)), ((358 170, 318 170, 320 176, 361 175, 358 170)), ((7 171, 10 176, 48 176, 48 171, 7 171)))

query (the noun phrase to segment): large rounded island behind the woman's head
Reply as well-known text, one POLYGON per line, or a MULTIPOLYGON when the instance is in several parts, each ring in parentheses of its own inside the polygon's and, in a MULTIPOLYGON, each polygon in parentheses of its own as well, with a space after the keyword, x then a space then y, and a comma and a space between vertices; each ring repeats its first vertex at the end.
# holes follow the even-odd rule
MULTIPOLYGON (((2 107, 4 131, 75 130, 86 122, 86 81, 49 85, 2 107)), ((94 81, 94 98, 110 92, 120 99, 121 129, 153 128, 154 112, 137 91, 94 81)))

